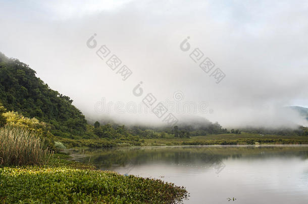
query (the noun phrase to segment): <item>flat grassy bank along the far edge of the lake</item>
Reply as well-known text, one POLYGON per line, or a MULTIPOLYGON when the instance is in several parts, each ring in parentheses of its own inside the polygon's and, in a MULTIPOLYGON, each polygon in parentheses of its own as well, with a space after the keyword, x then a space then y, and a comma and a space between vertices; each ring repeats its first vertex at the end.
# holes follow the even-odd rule
POLYGON ((135 141, 121 140, 72 140, 59 138, 66 147, 127 147, 127 146, 174 146, 174 145, 255 145, 255 144, 308 144, 308 136, 273 134, 209 134, 190 138, 154 138, 135 141))

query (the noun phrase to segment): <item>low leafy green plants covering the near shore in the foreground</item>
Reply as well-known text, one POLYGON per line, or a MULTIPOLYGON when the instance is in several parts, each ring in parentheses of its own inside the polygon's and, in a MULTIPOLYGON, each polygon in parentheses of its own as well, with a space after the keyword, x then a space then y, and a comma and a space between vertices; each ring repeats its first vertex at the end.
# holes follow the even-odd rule
POLYGON ((0 167, 1 203, 176 203, 184 187, 53 159, 50 165, 0 167))

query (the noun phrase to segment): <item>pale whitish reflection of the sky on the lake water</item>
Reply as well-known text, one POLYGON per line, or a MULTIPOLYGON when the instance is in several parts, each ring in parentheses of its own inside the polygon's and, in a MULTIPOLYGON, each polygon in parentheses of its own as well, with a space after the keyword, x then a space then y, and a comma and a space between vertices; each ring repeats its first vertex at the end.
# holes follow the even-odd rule
MULTIPOLYGON (((298 158, 228 159, 219 174, 206 165, 145 163, 130 167, 129 174, 159 178, 184 185, 190 192, 187 203, 224 203, 236 197, 238 203, 305 203, 308 162, 298 158), (204 202, 203 200, 206 200, 204 202)), ((126 173, 125 167, 113 170, 126 173)))

